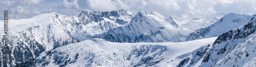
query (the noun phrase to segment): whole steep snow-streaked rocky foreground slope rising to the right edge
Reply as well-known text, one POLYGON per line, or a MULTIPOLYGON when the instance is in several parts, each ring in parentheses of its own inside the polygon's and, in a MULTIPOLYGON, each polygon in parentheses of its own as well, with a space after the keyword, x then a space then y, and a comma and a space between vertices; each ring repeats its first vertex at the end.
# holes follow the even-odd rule
POLYGON ((179 66, 255 66, 256 20, 220 35, 209 47, 195 50, 179 66))

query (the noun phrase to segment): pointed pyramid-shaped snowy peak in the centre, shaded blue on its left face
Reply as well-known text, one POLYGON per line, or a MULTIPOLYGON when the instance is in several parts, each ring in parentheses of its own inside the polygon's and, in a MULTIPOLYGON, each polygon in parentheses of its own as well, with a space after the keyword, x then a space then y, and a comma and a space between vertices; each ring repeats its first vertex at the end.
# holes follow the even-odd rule
POLYGON ((156 12, 140 11, 129 25, 112 28, 94 37, 113 42, 176 42, 186 32, 172 17, 165 18, 156 12))

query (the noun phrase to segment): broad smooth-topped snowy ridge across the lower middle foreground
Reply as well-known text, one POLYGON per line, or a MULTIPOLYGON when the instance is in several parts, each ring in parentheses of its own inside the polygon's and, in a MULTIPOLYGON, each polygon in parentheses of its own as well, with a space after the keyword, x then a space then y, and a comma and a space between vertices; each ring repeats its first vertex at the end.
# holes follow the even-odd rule
POLYGON ((117 43, 90 39, 41 53, 36 66, 177 66, 217 37, 161 43, 117 43))

